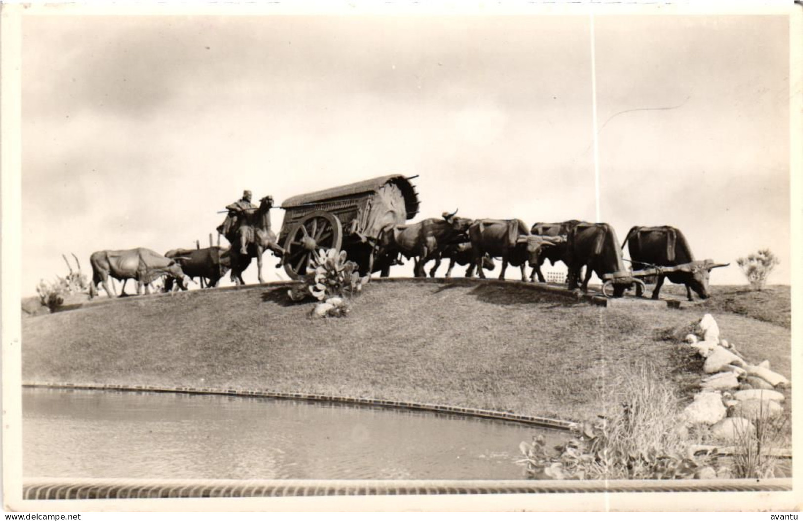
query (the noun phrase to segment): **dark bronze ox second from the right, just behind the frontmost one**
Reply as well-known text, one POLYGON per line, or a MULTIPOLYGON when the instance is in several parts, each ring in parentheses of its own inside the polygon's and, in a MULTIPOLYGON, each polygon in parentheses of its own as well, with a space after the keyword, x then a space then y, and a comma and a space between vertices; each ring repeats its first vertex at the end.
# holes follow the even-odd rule
POLYGON ((580 271, 584 266, 583 292, 589 291, 589 280, 593 273, 600 279, 604 279, 605 275, 613 275, 614 297, 621 297, 634 284, 644 284, 626 271, 616 232, 604 222, 581 222, 569 231, 566 259, 569 261, 569 290, 577 289, 580 271))

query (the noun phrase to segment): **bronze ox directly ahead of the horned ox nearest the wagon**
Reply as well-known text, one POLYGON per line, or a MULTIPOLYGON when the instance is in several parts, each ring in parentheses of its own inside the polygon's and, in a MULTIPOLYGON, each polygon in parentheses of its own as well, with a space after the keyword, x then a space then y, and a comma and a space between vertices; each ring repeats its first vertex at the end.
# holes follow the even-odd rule
POLYGON ((543 246, 552 246, 562 239, 543 238, 532 235, 527 226, 520 219, 495 220, 481 219, 475 221, 468 230, 471 238, 471 248, 474 250, 474 262, 480 279, 485 279, 483 272, 483 255, 502 258, 502 272, 499 280, 504 279, 507 264, 521 267, 521 280, 527 281, 527 267, 529 263, 534 267, 543 246))

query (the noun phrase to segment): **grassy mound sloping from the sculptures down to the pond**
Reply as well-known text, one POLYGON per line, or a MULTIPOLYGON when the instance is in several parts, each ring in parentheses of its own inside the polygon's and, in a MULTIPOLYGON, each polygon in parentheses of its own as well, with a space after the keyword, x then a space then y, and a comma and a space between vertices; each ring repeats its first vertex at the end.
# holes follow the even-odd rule
MULTIPOLYGON (((688 396, 702 368, 677 344, 705 312, 696 307, 602 308, 462 280, 370 283, 340 319, 310 320, 311 307, 274 286, 35 316, 22 324, 23 379, 270 389, 583 419, 617 406, 613 382, 640 364, 688 396)), ((768 359, 789 375, 789 328, 711 312, 748 360, 768 359)))

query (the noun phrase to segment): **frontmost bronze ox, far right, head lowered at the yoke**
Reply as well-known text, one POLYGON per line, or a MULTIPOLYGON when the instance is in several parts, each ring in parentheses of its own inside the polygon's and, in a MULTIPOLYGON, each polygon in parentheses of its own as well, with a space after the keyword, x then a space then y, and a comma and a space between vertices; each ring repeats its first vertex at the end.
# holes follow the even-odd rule
MULTIPOLYGON (((710 258, 696 261, 683 232, 672 226, 633 226, 627 233, 625 242, 622 242, 622 249, 626 244, 630 250, 630 260, 633 262, 634 270, 680 266, 675 271, 658 273, 653 299, 658 299, 665 278, 671 283, 685 284, 687 299, 694 300, 691 290, 694 290, 701 299, 707 299, 711 296, 708 291, 711 270, 728 266, 714 263, 710 258)), ((638 288, 636 295, 641 294, 642 288, 638 288)))

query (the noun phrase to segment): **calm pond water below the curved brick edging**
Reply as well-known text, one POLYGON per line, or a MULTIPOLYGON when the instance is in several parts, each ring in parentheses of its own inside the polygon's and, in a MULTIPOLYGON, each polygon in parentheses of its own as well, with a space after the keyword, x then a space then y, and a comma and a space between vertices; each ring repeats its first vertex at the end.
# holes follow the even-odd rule
POLYGON ((26 477, 520 479, 512 422, 268 398, 23 389, 26 477))

